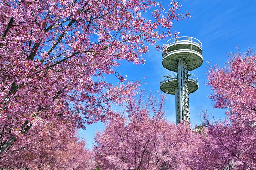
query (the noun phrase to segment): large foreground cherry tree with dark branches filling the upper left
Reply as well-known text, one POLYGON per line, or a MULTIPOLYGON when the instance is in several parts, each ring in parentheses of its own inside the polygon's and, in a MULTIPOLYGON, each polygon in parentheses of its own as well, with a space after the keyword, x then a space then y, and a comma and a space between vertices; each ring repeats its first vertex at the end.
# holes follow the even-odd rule
POLYGON ((153 0, 0 0, 2 154, 33 125, 105 120, 137 83, 104 81, 119 60, 140 64, 147 44, 177 36, 180 5, 153 0), (151 11, 151 18, 144 13, 151 11), (161 27, 164 29, 161 29, 161 27), (8 128, 7 128, 8 126, 8 128), (8 129, 8 130, 7 130, 8 129))

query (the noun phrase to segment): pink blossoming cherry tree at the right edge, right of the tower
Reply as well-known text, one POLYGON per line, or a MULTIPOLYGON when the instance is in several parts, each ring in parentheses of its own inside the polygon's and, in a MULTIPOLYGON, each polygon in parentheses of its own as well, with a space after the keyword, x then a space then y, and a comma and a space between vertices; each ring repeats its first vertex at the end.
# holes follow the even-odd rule
POLYGON ((215 108, 228 109, 227 119, 211 121, 204 113, 201 149, 192 169, 256 169, 256 54, 230 54, 224 68, 215 65, 208 84, 215 108), (203 167, 203 168, 202 168, 203 167))

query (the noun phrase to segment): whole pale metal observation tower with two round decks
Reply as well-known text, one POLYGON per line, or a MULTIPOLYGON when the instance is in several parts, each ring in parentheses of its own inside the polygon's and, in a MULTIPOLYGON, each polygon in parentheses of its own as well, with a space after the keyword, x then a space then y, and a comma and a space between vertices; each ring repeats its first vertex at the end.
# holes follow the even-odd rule
POLYGON ((163 76, 160 89, 175 95, 176 124, 182 120, 189 122, 189 93, 199 87, 198 78, 188 71, 203 63, 202 43, 193 37, 178 37, 168 40, 163 49, 163 67, 176 72, 163 76))

